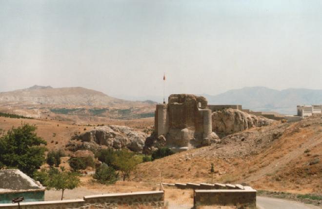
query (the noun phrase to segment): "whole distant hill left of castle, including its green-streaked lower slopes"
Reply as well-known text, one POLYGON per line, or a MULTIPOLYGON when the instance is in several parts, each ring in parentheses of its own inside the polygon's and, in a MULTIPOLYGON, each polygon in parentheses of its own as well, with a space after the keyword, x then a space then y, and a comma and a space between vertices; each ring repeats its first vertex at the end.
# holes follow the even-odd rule
POLYGON ((82 87, 32 86, 0 93, 0 112, 60 121, 104 122, 154 116, 155 102, 126 101, 82 87))

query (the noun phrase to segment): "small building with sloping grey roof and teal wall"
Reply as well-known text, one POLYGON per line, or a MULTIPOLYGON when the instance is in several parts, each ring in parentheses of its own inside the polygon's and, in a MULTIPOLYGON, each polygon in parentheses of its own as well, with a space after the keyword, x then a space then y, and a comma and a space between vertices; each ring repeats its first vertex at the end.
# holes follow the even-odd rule
POLYGON ((45 188, 19 169, 0 170, 0 204, 20 196, 23 202, 44 201, 45 188))

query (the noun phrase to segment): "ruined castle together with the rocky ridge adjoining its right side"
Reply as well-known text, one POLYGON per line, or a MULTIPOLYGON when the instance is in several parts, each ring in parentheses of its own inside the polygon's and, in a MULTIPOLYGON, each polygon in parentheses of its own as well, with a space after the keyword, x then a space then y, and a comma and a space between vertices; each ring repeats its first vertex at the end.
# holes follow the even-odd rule
POLYGON ((284 117, 242 109, 239 104, 208 105, 202 96, 172 94, 168 104, 157 104, 154 119, 154 133, 146 138, 144 153, 162 146, 174 151, 208 146, 219 143, 220 137, 269 125, 284 117))

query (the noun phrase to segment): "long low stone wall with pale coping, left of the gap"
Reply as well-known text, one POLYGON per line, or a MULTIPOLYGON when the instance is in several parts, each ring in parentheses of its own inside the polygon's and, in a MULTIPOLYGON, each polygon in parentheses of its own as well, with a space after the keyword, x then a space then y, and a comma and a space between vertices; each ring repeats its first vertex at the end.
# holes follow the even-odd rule
MULTIPOLYGON (((164 191, 141 191, 85 196, 79 200, 20 203, 20 209, 114 209, 118 206, 138 208, 164 206, 164 191)), ((0 204, 0 209, 18 209, 18 204, 0 204)))

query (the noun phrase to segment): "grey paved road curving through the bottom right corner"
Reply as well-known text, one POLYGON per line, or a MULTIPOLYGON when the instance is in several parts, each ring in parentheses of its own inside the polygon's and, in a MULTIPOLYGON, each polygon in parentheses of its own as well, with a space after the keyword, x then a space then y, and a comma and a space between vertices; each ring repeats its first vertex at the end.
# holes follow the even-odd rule
POLYGON ((256 202, 258 209, 322 209, 314 205, 270 197, 257 196, 256 202))

